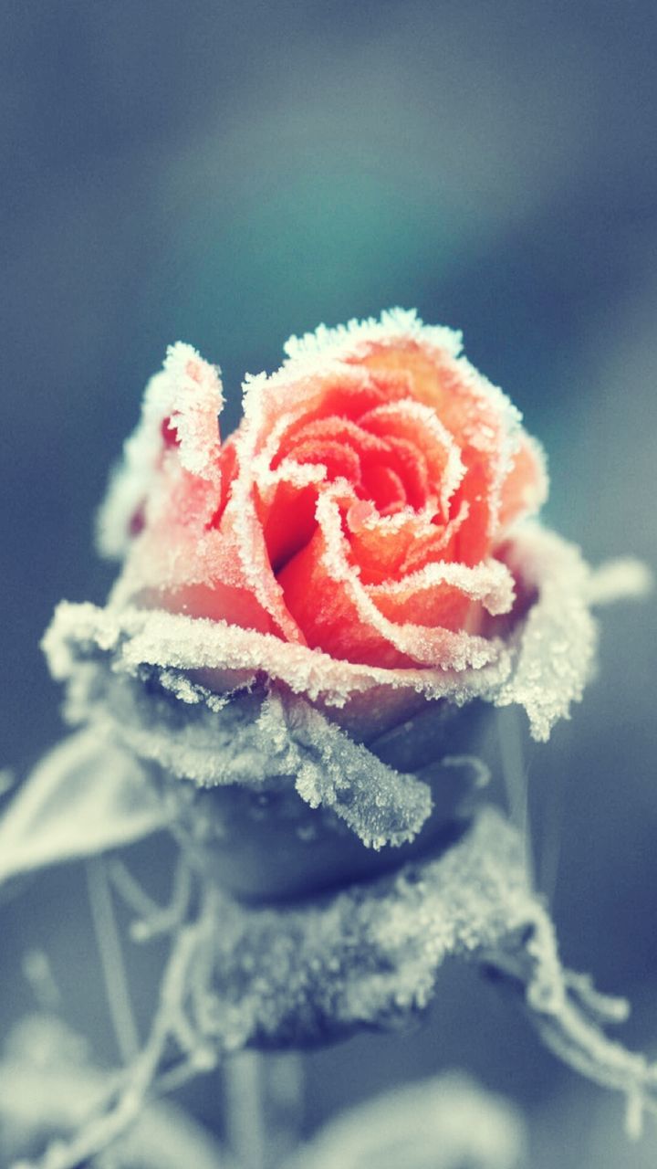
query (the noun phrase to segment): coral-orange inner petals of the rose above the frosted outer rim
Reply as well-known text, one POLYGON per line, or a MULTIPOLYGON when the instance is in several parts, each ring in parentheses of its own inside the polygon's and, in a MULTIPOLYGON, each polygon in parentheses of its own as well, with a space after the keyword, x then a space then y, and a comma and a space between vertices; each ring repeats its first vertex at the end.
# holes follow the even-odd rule
POLYGON ((132 451, 152 477, 115 599, 378 669, 490 663, 517 600, 507 533, 546 476, 518 411, 458 350, 399 311, 320 330, 247 382, 223 445, 215 372, 174 350, 145 410, 150 457, 145 433, 132 451))

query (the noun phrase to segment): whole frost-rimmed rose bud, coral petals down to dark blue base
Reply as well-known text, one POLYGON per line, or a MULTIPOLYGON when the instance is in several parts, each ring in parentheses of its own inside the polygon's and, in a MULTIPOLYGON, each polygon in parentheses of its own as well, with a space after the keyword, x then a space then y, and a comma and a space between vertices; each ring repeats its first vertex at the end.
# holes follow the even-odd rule
POLYGON ((459 347, 400 310, 320 328, 221 442, 217 372, 174 346, 101 514, 122 575, 47 636, 70 718, 150 761, 238 895, 449 845, 484 715, 519 703, 545 739, 581 697, 589 570, 530 519, 540 448, 459 347))

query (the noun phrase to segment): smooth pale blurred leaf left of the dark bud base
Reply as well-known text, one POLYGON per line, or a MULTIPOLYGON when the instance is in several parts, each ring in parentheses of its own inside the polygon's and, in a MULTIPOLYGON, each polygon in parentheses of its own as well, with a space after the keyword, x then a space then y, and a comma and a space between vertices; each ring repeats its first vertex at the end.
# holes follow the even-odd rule
POLYGON ((167 824, 143 767, 95 728, 35 767, 0 818, 0 881, 122 848, 167 824))

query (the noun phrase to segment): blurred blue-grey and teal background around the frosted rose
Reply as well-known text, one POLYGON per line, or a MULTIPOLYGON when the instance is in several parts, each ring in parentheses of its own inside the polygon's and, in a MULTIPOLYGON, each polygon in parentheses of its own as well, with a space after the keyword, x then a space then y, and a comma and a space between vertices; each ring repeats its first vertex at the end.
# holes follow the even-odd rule
MULTIPOLYGON (((547 448, 548 523, 594 562, 656 566, 656 53, 652 0, 5 0, 1 765, 25 774, 62 733, 39 639, 60 599, 104 599, 92 514, 178 339, 221 365, 228 433, 290 333, 396 304, 462 328, 547 448)), ((655 616, 604 611, 585 703, 526 746, 563 959, 629 995, 623 1038, 653 1051, 655 616)), ((170 853, 136 863, 157 885, 170 853)), ((116 1059, 81 870, 0 912, 2 1025, 33 1003, 36 947, 116 1059)), ((461 969, 423 1029, 306 1064, 309 1129, 457 1065, 528 1111, 537 1165, 657 1160, 655 1128, 601 1136, 621 1101, 461 969)), ((216 1084, 188 1102, 212 1122, 216 1084)))

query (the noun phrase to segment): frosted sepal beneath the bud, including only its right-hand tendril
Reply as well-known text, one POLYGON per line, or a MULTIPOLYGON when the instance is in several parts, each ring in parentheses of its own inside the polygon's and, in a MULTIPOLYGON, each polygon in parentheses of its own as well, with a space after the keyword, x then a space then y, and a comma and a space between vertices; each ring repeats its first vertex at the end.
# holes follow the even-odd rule
MULTIPOLYGON (((215 999, 206 1025, 219 1050, 396 1028, 428 1007, 438 969, 456 959, 507 985, 562 1060, 623 1093, 639 1114, 657 1112, 657 1067, 602 1029, 624 1019, 627 1004, 561 966, 524 843, 492 809, 451 849, 376 881, 276 909, 248 908, 213 888, 206 913, 198 938, 210 949, 206 994, 215 999)), ((191 970, 199 960, 188 956, 191 970)))

